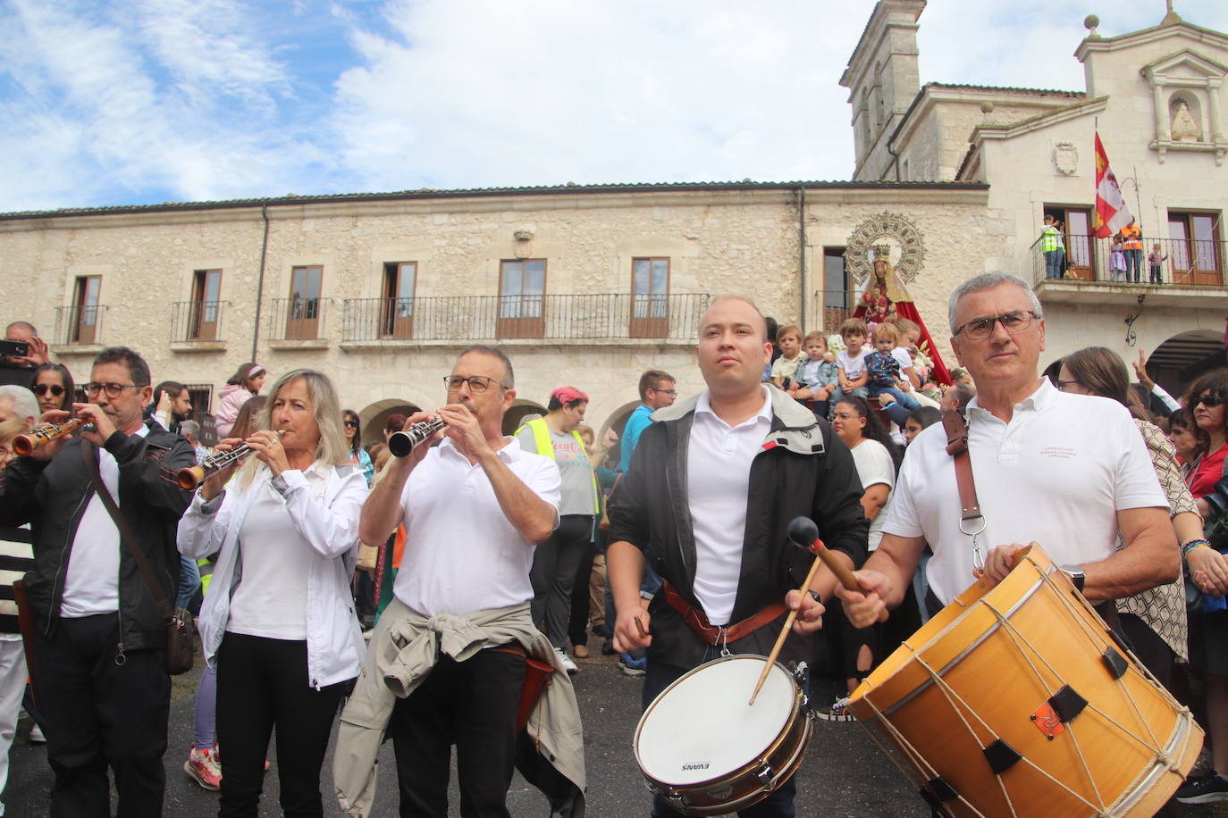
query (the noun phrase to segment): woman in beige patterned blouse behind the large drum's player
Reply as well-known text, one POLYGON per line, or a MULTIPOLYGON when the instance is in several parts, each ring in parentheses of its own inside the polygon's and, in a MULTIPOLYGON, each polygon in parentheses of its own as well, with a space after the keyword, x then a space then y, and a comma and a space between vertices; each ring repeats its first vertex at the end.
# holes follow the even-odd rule
MULTIPOLYGON (((1093 395, 1114 400, 1130 412, 1135 426, 1147 444, 1156 476, 1168 495, 1173 527, 1179 542, 1202 540, 1202 519, 1195 510, 1194 498, 1181 480, 1181 471, 1173 453, 1173 444, 1132 400, 1126 362, 1105 347, 1087 347, 1062 359, 1057 388, 1067 394, 1093 395)), ((1116 547, 1125 547, 1117 535, 1116 547)), ((1210 549, 1207 549, 1210 551, 1210 549)), ((1211 554, 1208 553, 1207 557, 1211 554)), ((1202 554, 1195 554, 1200 567, 1202 554)), ((1135 652, 1156 678, 1169 684, 1174 657, 1185 661, 1189 655, 1184 580, 1159 585, 1135 596, 1117 600, 1121 628, 1133 643, 1135 652)))

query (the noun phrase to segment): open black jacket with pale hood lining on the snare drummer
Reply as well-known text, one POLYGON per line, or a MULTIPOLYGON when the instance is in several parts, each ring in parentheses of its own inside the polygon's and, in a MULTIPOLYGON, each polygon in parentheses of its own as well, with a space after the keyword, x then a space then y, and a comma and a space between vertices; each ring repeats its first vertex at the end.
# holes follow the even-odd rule
MULTIPOLYGON (((826 421, 815 421, 809 410, 780 390, 770 388, 770 392, 771 432, 750 465, 742 571, 731 623, 783 601, 785 594, 806 579, 813 557, 788 541, 788 524, 795 516, 814 520, 824 545, 849 554, 855 565, 866 559, 869 522, 862 510, 862 487, 852 454, 826 421)), ((655 423, 640 437, 608 514, 610 542, 623 540, 645 551, 657 573, 700 608, 691 590, 696 551, 686 499, 686 448, 696 401, 652 416, 655 423)), ((648 662, 682 668, 698 665, 706 644, 666 602, 664 592, 657 594, 648 610, 648 662)), ((729 650, 766 655, 782 623, 783 614, 776 623, 729 643, 729 650)), ((786 654, 804 650, 799 641, 791 636, 786 654)))

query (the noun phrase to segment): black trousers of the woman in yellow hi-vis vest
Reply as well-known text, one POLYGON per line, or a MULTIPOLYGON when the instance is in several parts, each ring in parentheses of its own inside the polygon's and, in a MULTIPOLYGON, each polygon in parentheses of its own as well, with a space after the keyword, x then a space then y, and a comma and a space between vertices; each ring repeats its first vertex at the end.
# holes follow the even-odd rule
POLYGON ((555 648, 567 646, 571 590, 593 536, 592 514, 564 514, 550 538, 533 549, 533 624, 555 648))

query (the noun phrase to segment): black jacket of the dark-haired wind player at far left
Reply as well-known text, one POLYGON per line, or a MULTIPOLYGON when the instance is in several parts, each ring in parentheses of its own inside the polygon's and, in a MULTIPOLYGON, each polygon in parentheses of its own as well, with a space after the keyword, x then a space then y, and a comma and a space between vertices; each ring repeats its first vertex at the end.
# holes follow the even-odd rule
MULTIPOLYGON (((192 499, 174 472, 195 465, 192 444, 154 424, 144 438, 115 432, 104 445, 119 464, 120 514, 173 605, 179 581, 176 531, 192 499)), ((29 522, 34 533, 34 569, 26 574, 26 587, 38 625, 48 635, 59 621, 72 542, 92 497, 77 438, 50 462, 18 457, 0 473, 0 525, 29 522)), ((124 651, 166 646, 162 614, 126 542, 119 551, 119 624, 124 651)))

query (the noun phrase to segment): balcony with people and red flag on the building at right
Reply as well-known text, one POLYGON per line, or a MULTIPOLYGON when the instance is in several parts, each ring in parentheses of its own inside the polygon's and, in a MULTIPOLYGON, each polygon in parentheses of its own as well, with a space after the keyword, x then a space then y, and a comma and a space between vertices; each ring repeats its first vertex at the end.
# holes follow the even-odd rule
POLYGON ((1032 276, 1036 294, 1045 302, 1133 304, 1147 296, 1148 304, 1196 307, 1207 296, 1228 294, 1224 285, 1224 259, 1228 243, 1190 239, 1143 238, 1142 267, 1138 282, 1126 281, 1129 273, 1110 270, 1113 239, 1092 235, 1066 237, 1066 270, 1062 278, 1045 278, 1045 254, 1032 247, 1032 276), (1168 259, 1160 266, 1160 282, 1149 283, 1147 256, 1154 245, 1168 259))

